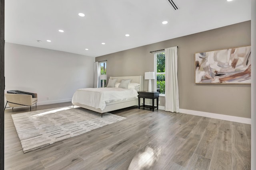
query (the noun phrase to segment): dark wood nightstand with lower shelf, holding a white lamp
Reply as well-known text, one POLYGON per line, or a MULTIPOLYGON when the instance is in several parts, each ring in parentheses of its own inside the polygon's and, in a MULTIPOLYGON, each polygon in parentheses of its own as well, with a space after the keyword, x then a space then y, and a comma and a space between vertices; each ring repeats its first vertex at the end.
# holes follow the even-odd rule
POLYGON ((154 108, 158 109, 158 98, 159 98, 159 92, 138 92, 138 100, 139 100, 139 109, 140 107, 147 107, 152 109, 154 111, 154 108), (143 98, 143 105, 140 106, 140 98, 143 98), (145 98, 152 99, 152 106, 145 105, 145 98), (156 99, 156 106, 154 106, 154 100, 156 99))

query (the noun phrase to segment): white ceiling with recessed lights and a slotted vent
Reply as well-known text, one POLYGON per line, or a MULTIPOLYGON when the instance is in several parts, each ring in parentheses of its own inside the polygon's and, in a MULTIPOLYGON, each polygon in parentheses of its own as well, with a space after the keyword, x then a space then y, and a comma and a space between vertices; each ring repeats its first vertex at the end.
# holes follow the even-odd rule
POLYGON ((251 0, 175 2, 180 9, 168 0, 5 0, 5 40, 98 57, 251 19, 251 0))

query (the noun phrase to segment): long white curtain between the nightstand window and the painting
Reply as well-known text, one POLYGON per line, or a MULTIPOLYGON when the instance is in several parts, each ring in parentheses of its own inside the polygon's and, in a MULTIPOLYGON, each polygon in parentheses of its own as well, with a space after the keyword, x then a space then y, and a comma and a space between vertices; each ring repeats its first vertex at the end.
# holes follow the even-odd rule
POLYGON ((165 50, 165 111, 179 112, 178 47, 165 50))

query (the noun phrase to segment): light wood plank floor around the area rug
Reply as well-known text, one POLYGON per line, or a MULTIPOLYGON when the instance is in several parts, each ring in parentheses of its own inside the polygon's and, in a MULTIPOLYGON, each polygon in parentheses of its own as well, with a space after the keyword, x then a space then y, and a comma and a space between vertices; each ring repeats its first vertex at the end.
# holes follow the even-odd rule
POLYGON ((11 114, 26 111, 5 111, 6 170, 250 170, 248 124, 130 107, 112 112, 127 119, 24 154, 11 114))

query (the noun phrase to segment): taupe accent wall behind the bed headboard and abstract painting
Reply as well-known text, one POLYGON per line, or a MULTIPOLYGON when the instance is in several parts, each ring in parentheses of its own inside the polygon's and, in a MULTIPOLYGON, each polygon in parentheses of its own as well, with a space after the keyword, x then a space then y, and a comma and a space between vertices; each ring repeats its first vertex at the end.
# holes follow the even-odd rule
MULTIPOLYGON (((107 61, 108 76, 154 71, 150 51, 178 46, 180 108, 250 118, 250 84, 194 84, 194 53, 250 45, 250 21, 96 57, 107 61)), ((144 80, 144 89, 148 81, 144 80)), ((152 87, 153 88, 153 87, 152 87)), ((160 97, 164 106, 164 97, 160 97)))

